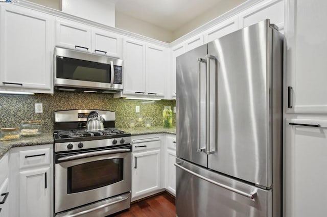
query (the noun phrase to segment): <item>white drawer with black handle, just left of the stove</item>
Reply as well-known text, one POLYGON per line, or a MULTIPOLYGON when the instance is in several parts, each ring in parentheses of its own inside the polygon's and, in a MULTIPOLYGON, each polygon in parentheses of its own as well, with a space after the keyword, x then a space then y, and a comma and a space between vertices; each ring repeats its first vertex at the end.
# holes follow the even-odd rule
POLYGON ((36 167, 50 164, 50 148, 19 152, 19 168, 36 167))

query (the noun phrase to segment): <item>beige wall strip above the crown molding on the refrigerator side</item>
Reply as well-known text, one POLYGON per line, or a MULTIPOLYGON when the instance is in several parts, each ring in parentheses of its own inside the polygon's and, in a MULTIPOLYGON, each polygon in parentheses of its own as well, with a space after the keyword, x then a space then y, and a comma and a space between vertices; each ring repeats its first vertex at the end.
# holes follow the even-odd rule
POLYGON ((227 11, 241 5, 247 0, 234 0, 234 1, 217 1, 219 2, 215 7, 209 9, 205 13, 196 17, 188 23, 185 23, 181 28, 173 31, 172 39, 173 41, 179 37, 197 29, 201 25, 215 19, 216 17, 226 13, 227 11))

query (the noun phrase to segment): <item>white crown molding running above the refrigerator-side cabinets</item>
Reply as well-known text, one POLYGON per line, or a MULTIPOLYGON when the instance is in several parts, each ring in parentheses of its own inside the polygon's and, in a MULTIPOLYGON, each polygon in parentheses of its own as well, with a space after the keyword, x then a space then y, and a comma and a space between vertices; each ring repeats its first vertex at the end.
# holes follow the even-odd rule
POLYGON ((245 11, 246 9, 252 7, 253 5, 256 5, 260 2, 263 2, 263 1, 266 1, 266 0, 248 0, 246 2, 244 2, 243 4, 227 11, 226 13, 220 15, 219 17, 201 25, 199 28, 191 31, 190 33, 186 34, 186 35, 183 35, 182 37, 176 39, 175 41, 171 42, 169 45, 170 47, 173 47, 179 43, 182 43, 184 42, 185 40, 187 39, 190 39, 192 38, 193 36, 196 36, 202 32, 204 32, 205 30, 208 30, 210 28, 212 28, 214 25, 232 17, 232 16, 235 16, 237 14, 239 14, 240 12, 242 11, 245 11))

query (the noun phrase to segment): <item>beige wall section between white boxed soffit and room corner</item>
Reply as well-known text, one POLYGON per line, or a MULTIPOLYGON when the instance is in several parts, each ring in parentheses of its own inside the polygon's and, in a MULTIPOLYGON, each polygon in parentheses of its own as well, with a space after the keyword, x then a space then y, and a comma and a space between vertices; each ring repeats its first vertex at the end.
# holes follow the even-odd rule
POLYGON ((173 41, 172 32, 119 12, 116 12, 115 27, 167 43, 173 41))

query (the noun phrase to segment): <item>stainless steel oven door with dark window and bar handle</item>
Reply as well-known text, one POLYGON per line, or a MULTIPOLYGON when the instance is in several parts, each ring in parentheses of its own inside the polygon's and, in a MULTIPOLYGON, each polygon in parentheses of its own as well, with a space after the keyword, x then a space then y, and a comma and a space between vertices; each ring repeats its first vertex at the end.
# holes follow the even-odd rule
POLYGON ((130 148, 58 155, 55 213, 131 190, 130 148))

